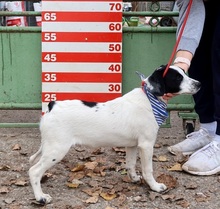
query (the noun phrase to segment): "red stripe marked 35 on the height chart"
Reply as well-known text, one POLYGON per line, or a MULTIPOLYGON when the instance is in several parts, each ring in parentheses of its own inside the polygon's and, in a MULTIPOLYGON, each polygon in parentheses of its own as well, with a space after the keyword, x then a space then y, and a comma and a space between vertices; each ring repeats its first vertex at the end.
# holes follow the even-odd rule
POLYGON ((42 82, 121 83, 121 73, 42 73, 42 82))

